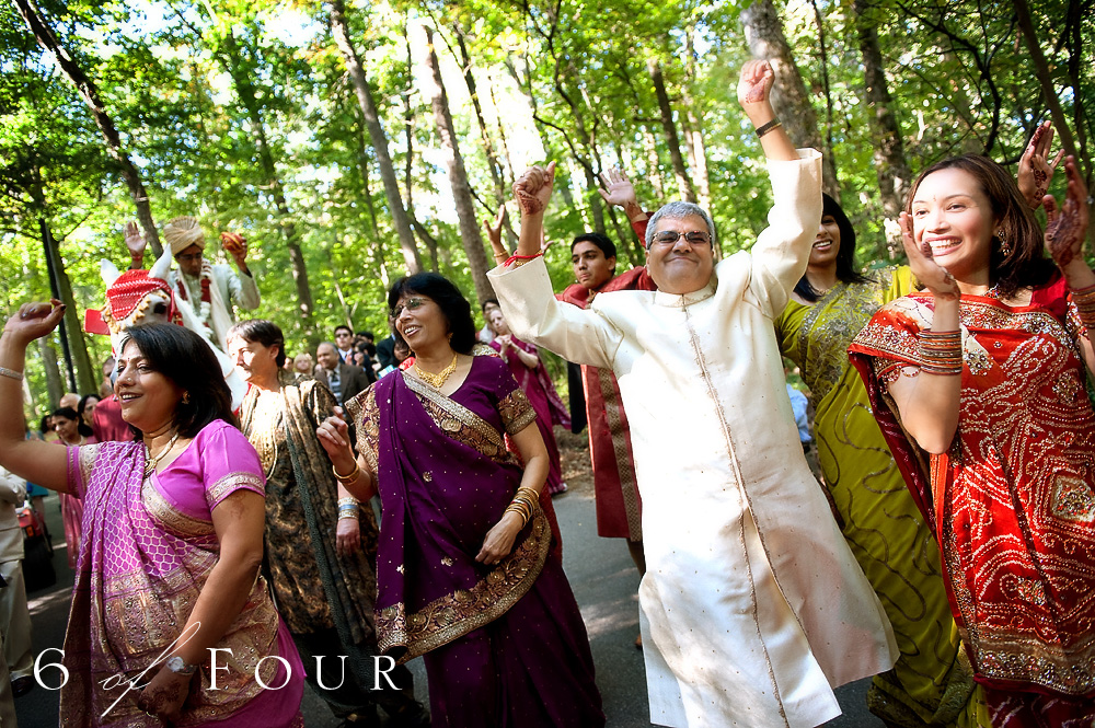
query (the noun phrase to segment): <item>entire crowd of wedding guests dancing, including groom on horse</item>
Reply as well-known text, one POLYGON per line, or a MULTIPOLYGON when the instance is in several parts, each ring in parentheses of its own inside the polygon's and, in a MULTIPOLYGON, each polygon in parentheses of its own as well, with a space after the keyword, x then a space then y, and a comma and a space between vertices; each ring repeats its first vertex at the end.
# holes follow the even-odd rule
POLYGON ((46 488, 77 573, 66 727, 299 728, 306 683, 345 726, 604 725, 552 505, 572 413, 548 350, 580 381, 597 532, 642 577, 653 723, 809 728, 869 677, 888 726, 1092 725, 1095 273, 1075 161, 1060 206, 1048 124, 1017 181, 972 154, 931 166, 900 216, 908 265, 868 268, 772 81, 751 61, 738 85, 769 227, 725 259, 706 210, 648 212, 612 170, 601 195, 646 265, 618 270, 585 233, 556 292, 554 164, 533 166, 516 251, 505 209, 485 223, 497 299, 479 322, 416 274, 380 340, 347 323, 290 351, 237 311, 260 303, 243 236, 221 233, 234 269, 211 265, 199 221, 176 218, 177 270, 149 279, 131 223, 102 386, 37 432, 16 406, 25 351, 65 307, 24 304, 0 337, 0 721, 34 687, 14 509, 41 515, 46 488), (419 656, 428 709, 403 665, 419 656))

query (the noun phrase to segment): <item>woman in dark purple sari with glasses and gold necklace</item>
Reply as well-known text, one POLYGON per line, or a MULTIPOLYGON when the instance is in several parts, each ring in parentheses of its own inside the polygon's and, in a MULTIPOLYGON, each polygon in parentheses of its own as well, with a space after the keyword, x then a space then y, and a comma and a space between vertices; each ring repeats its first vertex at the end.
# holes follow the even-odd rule
POLYGON ((424 656, 435 728, 602 726, 528 397, 505 362, 471 356, 471 309, 448 280, 404 278, 388 302, 415 365, 346 403, 357 461, 345 423, 319 430, 343 484, 380 493, 380 650, 424 656))

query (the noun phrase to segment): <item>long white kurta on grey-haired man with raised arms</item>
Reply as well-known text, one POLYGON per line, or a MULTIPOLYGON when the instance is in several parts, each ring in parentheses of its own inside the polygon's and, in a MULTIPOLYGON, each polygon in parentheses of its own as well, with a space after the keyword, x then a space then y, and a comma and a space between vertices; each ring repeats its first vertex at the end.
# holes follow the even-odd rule
POLYGON ((650 719, 806 728, 832 687, 883 672, 889 623, 810 474, 773 319, 821 217, 820 155, 770 162, 775 204, 751 253, 685 296, 555 301, 542 261, 489 273, 520 338, 609 367, 631 420, 647 573, 650 719))

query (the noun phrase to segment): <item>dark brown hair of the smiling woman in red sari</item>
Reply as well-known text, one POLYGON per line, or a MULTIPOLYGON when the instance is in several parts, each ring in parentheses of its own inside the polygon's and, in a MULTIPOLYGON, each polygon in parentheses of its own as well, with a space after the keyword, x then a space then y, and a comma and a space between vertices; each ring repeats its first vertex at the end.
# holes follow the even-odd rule
POLYGON ((952 169, 973 177, 992 208, 992 222, 1000 232, 992 240, 989 277, 996 287, 998 296, 1007 298, 1021 288, 1047 284, 1057 271, 1057 266, 1045 255, 1041 227, 1019 195, 1012 175, 988 157, 963 154, 927 167, 913 183, 904 211, 912 215, 912 200, 927 175, 952 169), (1007 250, 1006 255, 1004 250, 1007 250))

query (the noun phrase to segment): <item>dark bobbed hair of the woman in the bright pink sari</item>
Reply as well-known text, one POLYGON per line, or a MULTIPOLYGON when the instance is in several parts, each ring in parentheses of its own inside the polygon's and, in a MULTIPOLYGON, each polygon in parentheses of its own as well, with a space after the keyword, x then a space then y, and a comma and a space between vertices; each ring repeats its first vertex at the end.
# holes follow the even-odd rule
MULTIPOLYGON (((118 356, 132 342, 145 361, 175 383, 188 402, 175 405, 175 430, 180 437, 196 437, 215 419, 240 426, 232 414, 232 393, 224 383, 220 362, 205 339, 176 324, 130 326, 122 336, 118 356)), ((140 439, 141 432, 137 432, 140 439)))

